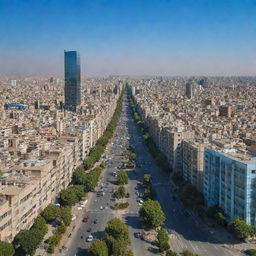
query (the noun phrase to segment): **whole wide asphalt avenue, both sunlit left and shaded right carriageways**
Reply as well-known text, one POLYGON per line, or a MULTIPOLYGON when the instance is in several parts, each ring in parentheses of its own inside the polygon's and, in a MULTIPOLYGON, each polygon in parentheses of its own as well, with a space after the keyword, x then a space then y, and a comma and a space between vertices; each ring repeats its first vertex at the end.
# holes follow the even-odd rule
POLYGON ((187 248, 202 256, 236 255, 225 249, 218 239, 214 238, 209 229, 201 223, 200 219, 188 209, 185 209, 179 200, 172 199, 169 177, 159 170, 148 152, 142 135, 133 122, 126 96, 124 97, 122 115, 113 140, 107 147, 106 156, 110 160, 101 177, 100 185, 96 189, 98 191, 101 185, 103 185, 105 194, 104 196, 98 197, 96 192, 94 192, 91 196, 91 200, 86 205, 86 210, 83 210, 84 216, 89 216, 89 221, 83 223, 81 220, 77 220, 79 223, 76 223, 76 226, 79 226, 79 228, 72 234, 70 242, 67 244, 68 250, 65 252, 65 255, 87 255, 85 249, 89 243, 85 241, 86 237, 92 234, 94 238, 102 238, 107 221, 114 217, 122 218, 128 224, 131 249, 134 255, 159 255, 155 246, 134 237, 135 232, 142 231, 141 220, 138 215, 138 197, 135 194, 135 188, 142 183, 144 173, 150 173, 152 175, 157 199, 167 216, 165 226, 169 231, 170 243, 173 250, 181 252, 187 248), (129 144, 135 148, 137 162, 140 168, 137 167, 135 170, 127 171, 129 176, 127 191, 130 193, 130 198, 128 199, 129 209, 127 211, 116 211, 111 209, 111 206, 115 203, 113 190, 116 190, 118 187, 115 183, 116 178, 112 173, 118 170, 117 167, 124 160, 121 153, 129 144), (95 219, 97 219, 97 224, 94 224, 95 219), (89 228, 91 229, 90 232, 88 232, 89 228))

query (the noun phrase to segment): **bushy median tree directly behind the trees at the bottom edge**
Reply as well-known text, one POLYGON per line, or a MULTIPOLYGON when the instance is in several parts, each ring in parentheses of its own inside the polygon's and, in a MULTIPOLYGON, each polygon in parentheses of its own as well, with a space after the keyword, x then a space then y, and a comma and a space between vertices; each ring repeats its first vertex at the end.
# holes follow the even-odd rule
POLYGON ((114 218, 108 221, 105 228, 107 235, 112 236, 114 239, 123 239, 129 244, 129 233, 127 225, 118 218, 114 218))

